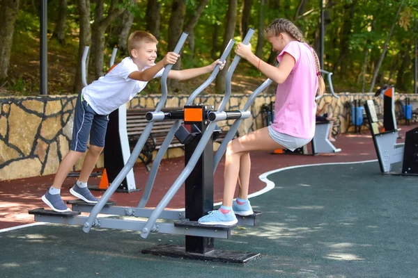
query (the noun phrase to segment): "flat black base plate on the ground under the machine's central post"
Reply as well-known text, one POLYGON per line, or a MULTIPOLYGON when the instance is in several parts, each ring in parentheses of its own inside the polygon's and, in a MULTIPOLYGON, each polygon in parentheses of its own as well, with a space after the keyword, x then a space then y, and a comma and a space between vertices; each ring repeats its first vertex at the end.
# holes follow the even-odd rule
POLYGON ((172 258, 194 259, 200 261, 217 261, 221 263, 247 263, 261 256, 260 253, 212 250, 205 254, 186 252, 185 247, 174 245, 157 245, 144 249, 142 254, 169 256, 172 258))

